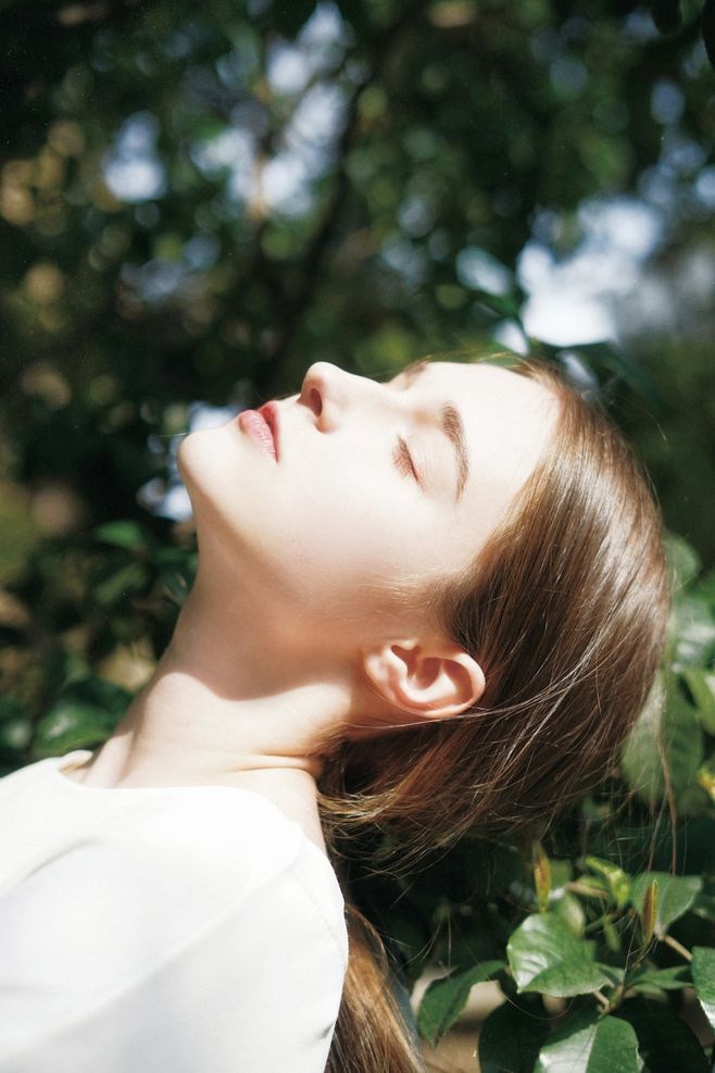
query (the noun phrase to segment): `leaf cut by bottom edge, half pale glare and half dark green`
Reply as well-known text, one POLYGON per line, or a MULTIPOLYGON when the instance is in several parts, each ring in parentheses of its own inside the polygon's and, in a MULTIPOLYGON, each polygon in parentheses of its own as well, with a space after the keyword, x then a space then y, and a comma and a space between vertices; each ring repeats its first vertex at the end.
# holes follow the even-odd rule
POLYGON ((534 1073, 639 1073, 636 1033, 618 1018, 581 1010, 541 1048, 534 1073))

